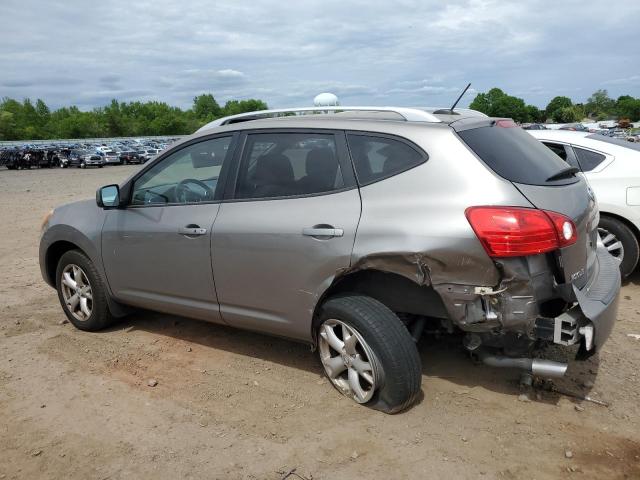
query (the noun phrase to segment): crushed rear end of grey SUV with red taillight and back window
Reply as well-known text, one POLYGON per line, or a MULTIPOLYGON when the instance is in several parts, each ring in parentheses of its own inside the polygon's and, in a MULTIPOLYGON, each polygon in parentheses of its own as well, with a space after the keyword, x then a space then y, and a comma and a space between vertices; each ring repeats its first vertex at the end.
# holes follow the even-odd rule
POLYGON ((465 346, 478 349, 485 363, 563 375, 566 365, 500 358, 482 347, 498 346, 513 356, 536 341, 579 344, 579 358, 602 347, 617 314, 620 276, 618 261, 597 233, 593 192, 577 169, 545 155, 510 120, 463 120, 451 126, 530 205, 468 207, 467 220, 499 280, 488 288, 435 288, 449 299, 451 319, 468 332, 465 346))

